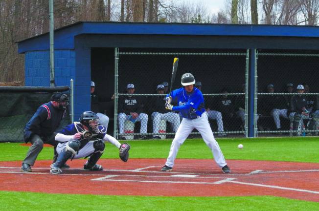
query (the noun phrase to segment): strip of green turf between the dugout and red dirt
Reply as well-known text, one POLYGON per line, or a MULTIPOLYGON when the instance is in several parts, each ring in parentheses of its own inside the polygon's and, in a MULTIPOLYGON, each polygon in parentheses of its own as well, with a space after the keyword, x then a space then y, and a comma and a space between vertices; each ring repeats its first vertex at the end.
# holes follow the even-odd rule
MULTIPOLYGON (((319 163, 317 137, 222 138, 217 141, 226 159, 319 163), (238 144, 243 144, 244 148, 238 149, 238 144)), ((171 140, 126 142, 131 145, 130 158, 166 158, 171 144, 171 140)), ((27 149, 20 143, 0 143, 0 161, 23 160, 27 149)), ((45 147, 38 160, 50 160, 52 155, 53 148, 45 147)), ((118 158, 118 149, 108 143, 102 158, 118 158)), ((212 154, 202 139, 187 139, 177 158, 209 159, 212 154)))

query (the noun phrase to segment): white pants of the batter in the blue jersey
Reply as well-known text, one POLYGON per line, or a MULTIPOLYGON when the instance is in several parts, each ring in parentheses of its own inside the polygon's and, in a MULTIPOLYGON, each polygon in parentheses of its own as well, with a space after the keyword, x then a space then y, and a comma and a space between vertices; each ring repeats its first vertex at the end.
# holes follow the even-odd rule
POLYGON ((169 150, 169 155, 167 157, 165 165, 168 167, 174 166, 174 161, 177 156, 177 152, 181 145, 184 143, 185 139, 188 137, 189 133, 193 129, 197 129, 204 139, 205 144, 211 149, 213 157, 217 165, 222 168, 227 165, 223 152, 219 148, 218 143, 216 142, 213 132, 211 131, 207 115, 204 112, 201 117, 197 119, 182 119, 180 127, 177 129, 175 138, 172 142, 171 148, 169 150))

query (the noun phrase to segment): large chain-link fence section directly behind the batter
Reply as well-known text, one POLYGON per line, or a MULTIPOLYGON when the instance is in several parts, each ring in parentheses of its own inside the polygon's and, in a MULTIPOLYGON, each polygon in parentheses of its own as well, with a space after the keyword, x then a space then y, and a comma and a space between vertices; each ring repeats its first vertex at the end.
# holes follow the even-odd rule
MULTIPOLYGON (((217 136, 247 134, 248 51, 115 50, 114 136, 119 139, 171 138, 182 117, 165 109, 174 57, 179 58, 173 89, 181 76, 194 75, 205 98, 211 128, 217 136), (195 52, 194 52, 195 51, 195 52)), ((178 102, 173 102, 178 105, 178 102)), ((192 136, 198 135, 193 130, 192 136)))

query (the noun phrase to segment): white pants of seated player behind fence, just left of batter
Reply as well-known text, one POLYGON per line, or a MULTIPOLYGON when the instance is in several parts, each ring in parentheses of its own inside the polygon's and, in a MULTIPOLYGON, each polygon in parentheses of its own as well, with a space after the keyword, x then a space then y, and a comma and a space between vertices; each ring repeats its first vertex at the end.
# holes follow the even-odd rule
POLYGON ((153 119, 153 133, 159 132, 160 127, 160 120, 166 120, 173 125, 173 131, 176 132, 178 127, 180 127, 180 115, 174 112, 167 112, 167 113, 159 113, 153 112, 152 113, 153 119))

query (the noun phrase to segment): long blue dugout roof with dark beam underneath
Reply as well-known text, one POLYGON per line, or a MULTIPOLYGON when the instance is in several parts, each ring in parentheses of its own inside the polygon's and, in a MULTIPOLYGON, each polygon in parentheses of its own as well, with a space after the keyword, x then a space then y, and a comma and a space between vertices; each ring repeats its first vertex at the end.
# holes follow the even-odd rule
MULTIPOLYGON (((54 36, 55 49, 74 49, 77 44, 91 47, 319 49, 317 26, 81 21, 56 29, 54 36), (87 39, 88 36, 90 40, 81 44, 76 39, 87 39)), ((49 33, 19 41, 18 45, 19 53, 47 50, 49 33)))

